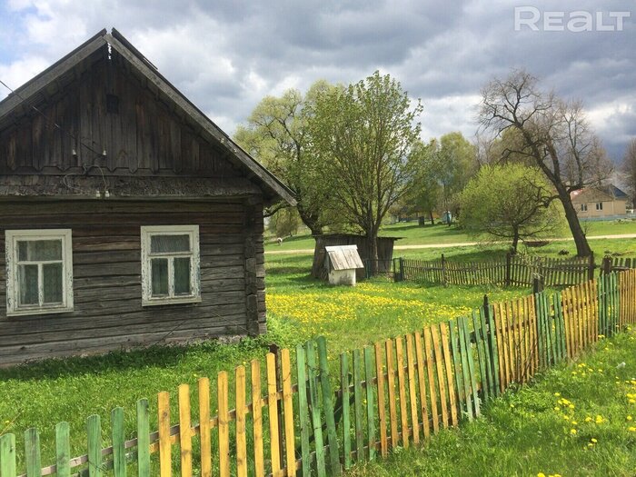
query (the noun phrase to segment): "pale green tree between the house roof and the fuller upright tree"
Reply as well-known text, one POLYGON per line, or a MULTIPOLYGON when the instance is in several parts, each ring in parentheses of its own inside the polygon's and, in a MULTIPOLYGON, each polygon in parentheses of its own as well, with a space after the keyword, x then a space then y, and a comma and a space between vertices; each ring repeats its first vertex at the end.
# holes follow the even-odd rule
MULTIPOLYGON (((240 125, 234 139, 281 177, 296 194, 298 214, 312 234, 322 234, 323 211, 330 195, 318 177, 316 157, 309 135, 312 104, 321 92, 332 88, 325 81, 314 83, 306 94, 290 89, 280 97, 266 96, 240 125)), ((276 209, 274 209, 275 212, 276 209)))

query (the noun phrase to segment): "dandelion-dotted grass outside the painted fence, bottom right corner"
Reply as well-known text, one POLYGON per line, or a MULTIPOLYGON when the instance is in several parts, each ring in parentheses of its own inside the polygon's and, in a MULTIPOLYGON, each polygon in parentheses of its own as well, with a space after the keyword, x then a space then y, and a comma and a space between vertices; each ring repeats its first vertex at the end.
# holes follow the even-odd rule
POLYGON ((350 476, 633 476, 636 329, 482 408, 482 418, 350 476), (622 364, 624 363, 624 364, 622 364))

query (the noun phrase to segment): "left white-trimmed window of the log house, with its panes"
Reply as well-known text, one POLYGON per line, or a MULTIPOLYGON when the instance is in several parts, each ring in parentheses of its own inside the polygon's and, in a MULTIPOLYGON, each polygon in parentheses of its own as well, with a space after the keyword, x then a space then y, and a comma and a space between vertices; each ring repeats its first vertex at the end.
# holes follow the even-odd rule
POLYGON ((71 229, 7 230, 6 314, 73 311, 71 229))

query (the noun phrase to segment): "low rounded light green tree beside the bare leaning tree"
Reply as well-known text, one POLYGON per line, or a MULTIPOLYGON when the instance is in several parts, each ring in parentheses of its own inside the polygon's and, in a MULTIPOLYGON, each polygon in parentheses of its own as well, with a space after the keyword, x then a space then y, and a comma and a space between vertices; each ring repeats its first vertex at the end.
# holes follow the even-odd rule
POLYGON ((460 224, 475 236, 512 240, 516 253, 520 240, 560 227, 552 194, 552 184, 536 167, 484 165, 460 194, 460 224))

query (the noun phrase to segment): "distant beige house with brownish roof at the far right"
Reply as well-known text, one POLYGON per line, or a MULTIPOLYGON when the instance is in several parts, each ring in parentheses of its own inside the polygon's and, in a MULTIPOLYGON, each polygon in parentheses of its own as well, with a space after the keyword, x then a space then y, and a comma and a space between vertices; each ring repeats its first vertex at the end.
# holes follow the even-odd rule
POLYGON ((609 219, 627 214, 627 194, 613 184, 574 191, 571 200, 581 219, 609 219))

